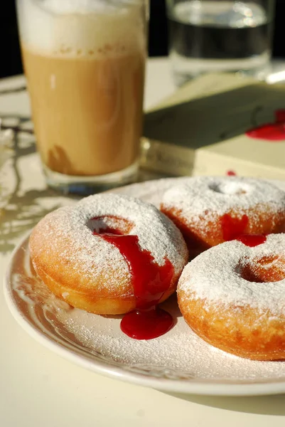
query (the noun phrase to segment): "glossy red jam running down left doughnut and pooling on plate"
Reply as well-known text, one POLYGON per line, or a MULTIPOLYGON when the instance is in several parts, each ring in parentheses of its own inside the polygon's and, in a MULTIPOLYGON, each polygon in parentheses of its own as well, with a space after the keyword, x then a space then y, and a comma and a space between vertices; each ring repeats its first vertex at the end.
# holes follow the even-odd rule
POLYGON ((135 339, 153 339, 168 332, 173 318, 156 305, 171 284, 174 270, 171 262, 166 259, 164 265, 156 264, 151 253, 139 247, 138 236, 123 235, 111 228, 94 234, 116 246, 129 265, 136 310, 124 315, 122 332, 135 339))

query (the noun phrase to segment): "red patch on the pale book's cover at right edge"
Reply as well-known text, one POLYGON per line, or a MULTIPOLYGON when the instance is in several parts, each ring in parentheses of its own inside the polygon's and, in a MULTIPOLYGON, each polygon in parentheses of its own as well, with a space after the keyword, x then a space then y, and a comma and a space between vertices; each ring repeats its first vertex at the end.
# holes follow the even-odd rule
POLYGON ((275 112, 275 122, 267 123, 256 127, 255 129, 246 132, 246 135, 251 138, 265 139, 267 141, 276 142, 285 140, 285 110, 277 110, 275 112))

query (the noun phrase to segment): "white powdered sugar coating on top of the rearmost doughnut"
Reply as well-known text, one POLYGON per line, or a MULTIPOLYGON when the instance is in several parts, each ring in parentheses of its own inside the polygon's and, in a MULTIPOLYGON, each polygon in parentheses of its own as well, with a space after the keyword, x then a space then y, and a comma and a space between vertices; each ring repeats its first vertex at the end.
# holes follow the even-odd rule
POLYGON ((181 211, 185 221, 222 216, 237 209, 240 216, 256 206, 267 211, 285 209, 285 192, 268 181, 237 176, 198 176, 165 192, 162 204, 181 211), (189 219, 190 218, 190 219, 189 219))

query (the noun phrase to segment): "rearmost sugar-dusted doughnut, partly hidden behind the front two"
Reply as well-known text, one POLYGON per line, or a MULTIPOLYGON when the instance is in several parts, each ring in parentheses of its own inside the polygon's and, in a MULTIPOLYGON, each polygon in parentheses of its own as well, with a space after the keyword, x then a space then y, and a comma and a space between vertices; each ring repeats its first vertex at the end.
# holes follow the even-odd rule
POLYGON ((243 233, 283 232, 285 192, 259 179, 199 176, 168 189, 161 211, 181 229, 193 257, 243 233))

